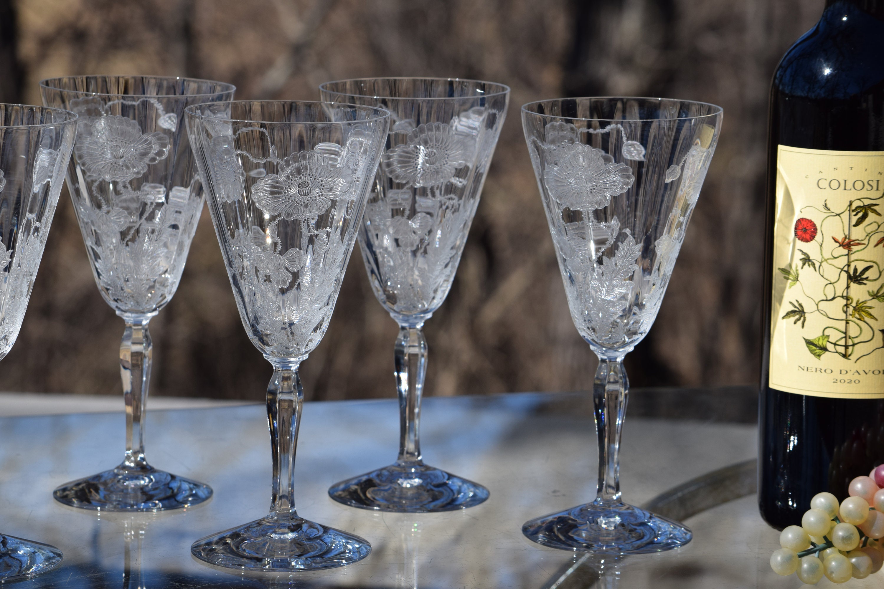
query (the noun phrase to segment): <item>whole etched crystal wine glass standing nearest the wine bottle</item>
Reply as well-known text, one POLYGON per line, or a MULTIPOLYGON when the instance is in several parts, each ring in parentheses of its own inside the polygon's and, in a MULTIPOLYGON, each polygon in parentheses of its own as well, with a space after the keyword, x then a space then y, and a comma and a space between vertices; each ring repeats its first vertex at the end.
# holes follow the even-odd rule
POLYGON ((620 440, 629 381, 623 358, 657 317, 712 160, 721 109, 657 98, 530 102, 522 126, 577 331, 598 356, 595 501, 532 519, 549 547, 641 554, 690 530, 621 501, 620 440))

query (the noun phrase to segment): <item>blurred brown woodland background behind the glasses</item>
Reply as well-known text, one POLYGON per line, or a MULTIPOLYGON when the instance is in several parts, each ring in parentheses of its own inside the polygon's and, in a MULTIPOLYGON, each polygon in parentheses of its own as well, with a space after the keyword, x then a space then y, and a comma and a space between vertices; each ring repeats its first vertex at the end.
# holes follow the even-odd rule
MULTIPOLYGON (((823 0, 0 0, 0 101, 85 73, 229 81, 237 98, 308 99, 326 80, 478 78, 512 87, 446 304, 427 323, 428 395, 586 389, 595 359, 565 301, 522 138, 524 102, 667 95, 715 102, 724 128, 667 298, 628 358, 634 386, 754 383, 766 103, 782 53, 823 0)), ((151 389, 263 398, 208 212, 179 291, 151 322, 151 389)), ((65 193, 0 390, 118 394, 123 322, 93 282, 65 193)), ((392 396, 397 329, 356 253, 308 398, 392 396)))

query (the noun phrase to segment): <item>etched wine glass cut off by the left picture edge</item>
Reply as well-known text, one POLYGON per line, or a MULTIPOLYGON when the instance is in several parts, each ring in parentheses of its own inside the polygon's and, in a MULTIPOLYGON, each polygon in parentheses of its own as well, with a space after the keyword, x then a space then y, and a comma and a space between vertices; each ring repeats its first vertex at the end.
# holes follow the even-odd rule
MULTIPOLYGON (((0 359, 19 336, 76 132, 70 111, 0 104, 0 359)), ((56 547, 0 533, 0 583, 61 559, 56 547)))

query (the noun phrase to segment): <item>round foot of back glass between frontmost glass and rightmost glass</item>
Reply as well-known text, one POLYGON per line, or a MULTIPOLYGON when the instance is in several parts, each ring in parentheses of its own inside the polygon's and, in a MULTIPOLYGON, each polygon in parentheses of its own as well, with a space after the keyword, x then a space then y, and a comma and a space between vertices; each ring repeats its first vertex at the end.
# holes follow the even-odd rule
POLYGON ((488 489, 422 462, 396 463, 329 489, 337 502, 363 510, 426 513, 461 510, 488 499, 488 489))

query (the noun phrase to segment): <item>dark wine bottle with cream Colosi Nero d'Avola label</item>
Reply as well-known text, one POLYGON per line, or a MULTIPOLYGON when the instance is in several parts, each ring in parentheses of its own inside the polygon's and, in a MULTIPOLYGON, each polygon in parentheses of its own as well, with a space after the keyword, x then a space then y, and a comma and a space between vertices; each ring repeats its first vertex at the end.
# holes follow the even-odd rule
POLYGON ((884 463, 884 0, 827 0, 773 76, 758 507, 884 463))

